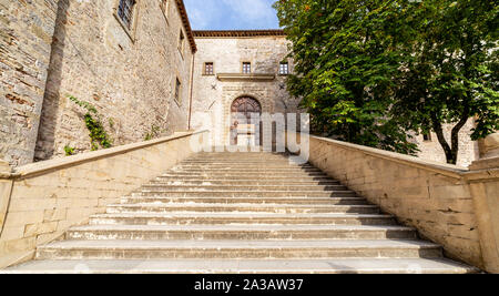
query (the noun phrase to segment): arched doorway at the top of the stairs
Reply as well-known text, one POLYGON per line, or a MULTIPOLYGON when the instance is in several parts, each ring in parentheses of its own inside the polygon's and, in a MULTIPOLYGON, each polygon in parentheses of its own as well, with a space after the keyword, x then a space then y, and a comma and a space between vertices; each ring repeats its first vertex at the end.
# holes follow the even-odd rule
POLYGON ((251 96, 234 100, 231 106, 231 145, 261 145, 262 105, 251 96), (252 122, 252 116, 258 116, 252 122))

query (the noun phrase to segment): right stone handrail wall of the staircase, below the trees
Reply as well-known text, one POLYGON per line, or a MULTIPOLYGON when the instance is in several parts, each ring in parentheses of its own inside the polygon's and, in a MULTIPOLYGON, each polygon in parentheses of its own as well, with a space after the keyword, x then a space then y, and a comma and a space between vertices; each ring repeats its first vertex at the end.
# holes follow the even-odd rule
POLYGON ((498 157, 466 169, 325 137, 308 142, 308 161, 329 176, 442 245, 447 256, 499 273, 498 157))

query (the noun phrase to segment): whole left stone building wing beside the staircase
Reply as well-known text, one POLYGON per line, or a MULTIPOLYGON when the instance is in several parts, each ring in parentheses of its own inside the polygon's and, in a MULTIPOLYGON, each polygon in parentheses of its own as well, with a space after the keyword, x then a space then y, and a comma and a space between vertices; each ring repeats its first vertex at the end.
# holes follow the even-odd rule
POLYGON ((0 159, 89 151, 92 104, 113 145, 187 129, 193 55, 173 0, 0 1, 0 159))

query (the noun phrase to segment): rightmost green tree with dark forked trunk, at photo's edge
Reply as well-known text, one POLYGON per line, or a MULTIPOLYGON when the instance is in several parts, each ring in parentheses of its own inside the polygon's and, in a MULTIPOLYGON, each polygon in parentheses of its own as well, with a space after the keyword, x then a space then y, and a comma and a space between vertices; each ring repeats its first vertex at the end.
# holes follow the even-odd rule
POLYGON ((497 1, 425 0, 408 19, 416 38, 401 44, 410 59, 393 112, 410 130, 434 131, 451 164, 470 118, 476 118, 472 140, 499 129, 497 16, 497 1), (450 139, 445 124, 451 125, 450 139))

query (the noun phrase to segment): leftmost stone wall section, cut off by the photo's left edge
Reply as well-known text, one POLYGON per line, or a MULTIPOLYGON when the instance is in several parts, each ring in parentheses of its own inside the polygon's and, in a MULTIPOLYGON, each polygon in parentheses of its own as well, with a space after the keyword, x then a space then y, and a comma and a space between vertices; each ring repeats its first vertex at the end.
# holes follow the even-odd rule
POLYGON ((57 0, 0 0, 0 160, 33 161, 57 0))

